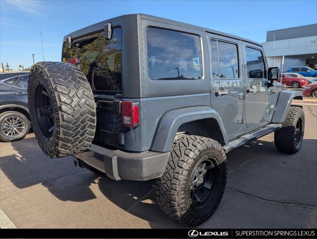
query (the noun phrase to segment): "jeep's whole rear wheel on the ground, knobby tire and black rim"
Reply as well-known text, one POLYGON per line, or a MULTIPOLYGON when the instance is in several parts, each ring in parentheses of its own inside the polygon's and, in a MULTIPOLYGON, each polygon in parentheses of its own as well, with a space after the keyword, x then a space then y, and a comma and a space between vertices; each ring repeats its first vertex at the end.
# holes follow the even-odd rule
POLYGON ((227 180, 226 155, 213 139, 189 135, 174 142, 164 174, 156 180, 162 211, 188 226, 208 220, 227 180))

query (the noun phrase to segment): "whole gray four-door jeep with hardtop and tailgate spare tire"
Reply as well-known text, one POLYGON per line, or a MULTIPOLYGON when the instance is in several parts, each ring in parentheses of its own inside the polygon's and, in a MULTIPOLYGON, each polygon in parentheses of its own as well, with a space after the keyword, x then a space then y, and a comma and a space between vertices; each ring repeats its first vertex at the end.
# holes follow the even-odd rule
POLYGON ((30 73, 42 150, 114 180, 156 179, 158 205, 182 224, 216 210, 230 150, 273 131, 279 151, 301 148, 302 93, 274 81, 259 43, 131 14, 66 35, 62 51, 30 73))

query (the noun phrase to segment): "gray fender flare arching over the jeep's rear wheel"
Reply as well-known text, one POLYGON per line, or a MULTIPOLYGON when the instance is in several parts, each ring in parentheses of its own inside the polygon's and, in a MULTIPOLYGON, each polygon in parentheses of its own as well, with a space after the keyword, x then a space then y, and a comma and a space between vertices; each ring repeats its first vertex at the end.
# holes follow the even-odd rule
POLYGON ((220 127, 225 144, 228 144, 227 135, 219 114, 210 107, 195 106, 165 113, 156 128, 151 150, 157 152, 171 151, 179 127, 184 123, 199 119, 215 119, 220 127))

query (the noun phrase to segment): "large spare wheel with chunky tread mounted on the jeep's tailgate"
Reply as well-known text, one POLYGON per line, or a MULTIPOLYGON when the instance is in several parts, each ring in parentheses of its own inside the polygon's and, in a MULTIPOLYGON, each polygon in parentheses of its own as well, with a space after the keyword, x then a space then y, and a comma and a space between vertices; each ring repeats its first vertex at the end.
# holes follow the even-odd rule
POLYGON ((36 139, 45 154, 63 157, 90 147, 96 129, 95 101, 86 76, 76 65, 33 65, 28 105, 36 139))

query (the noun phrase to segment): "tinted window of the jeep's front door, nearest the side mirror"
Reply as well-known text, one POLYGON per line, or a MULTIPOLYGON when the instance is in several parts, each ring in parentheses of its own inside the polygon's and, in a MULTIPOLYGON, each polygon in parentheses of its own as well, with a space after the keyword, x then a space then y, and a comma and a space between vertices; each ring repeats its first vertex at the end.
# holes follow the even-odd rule
POLYGON ((245 52, 248 78, 265 78, 262 52, 249 47, 246 47, 245 52))

